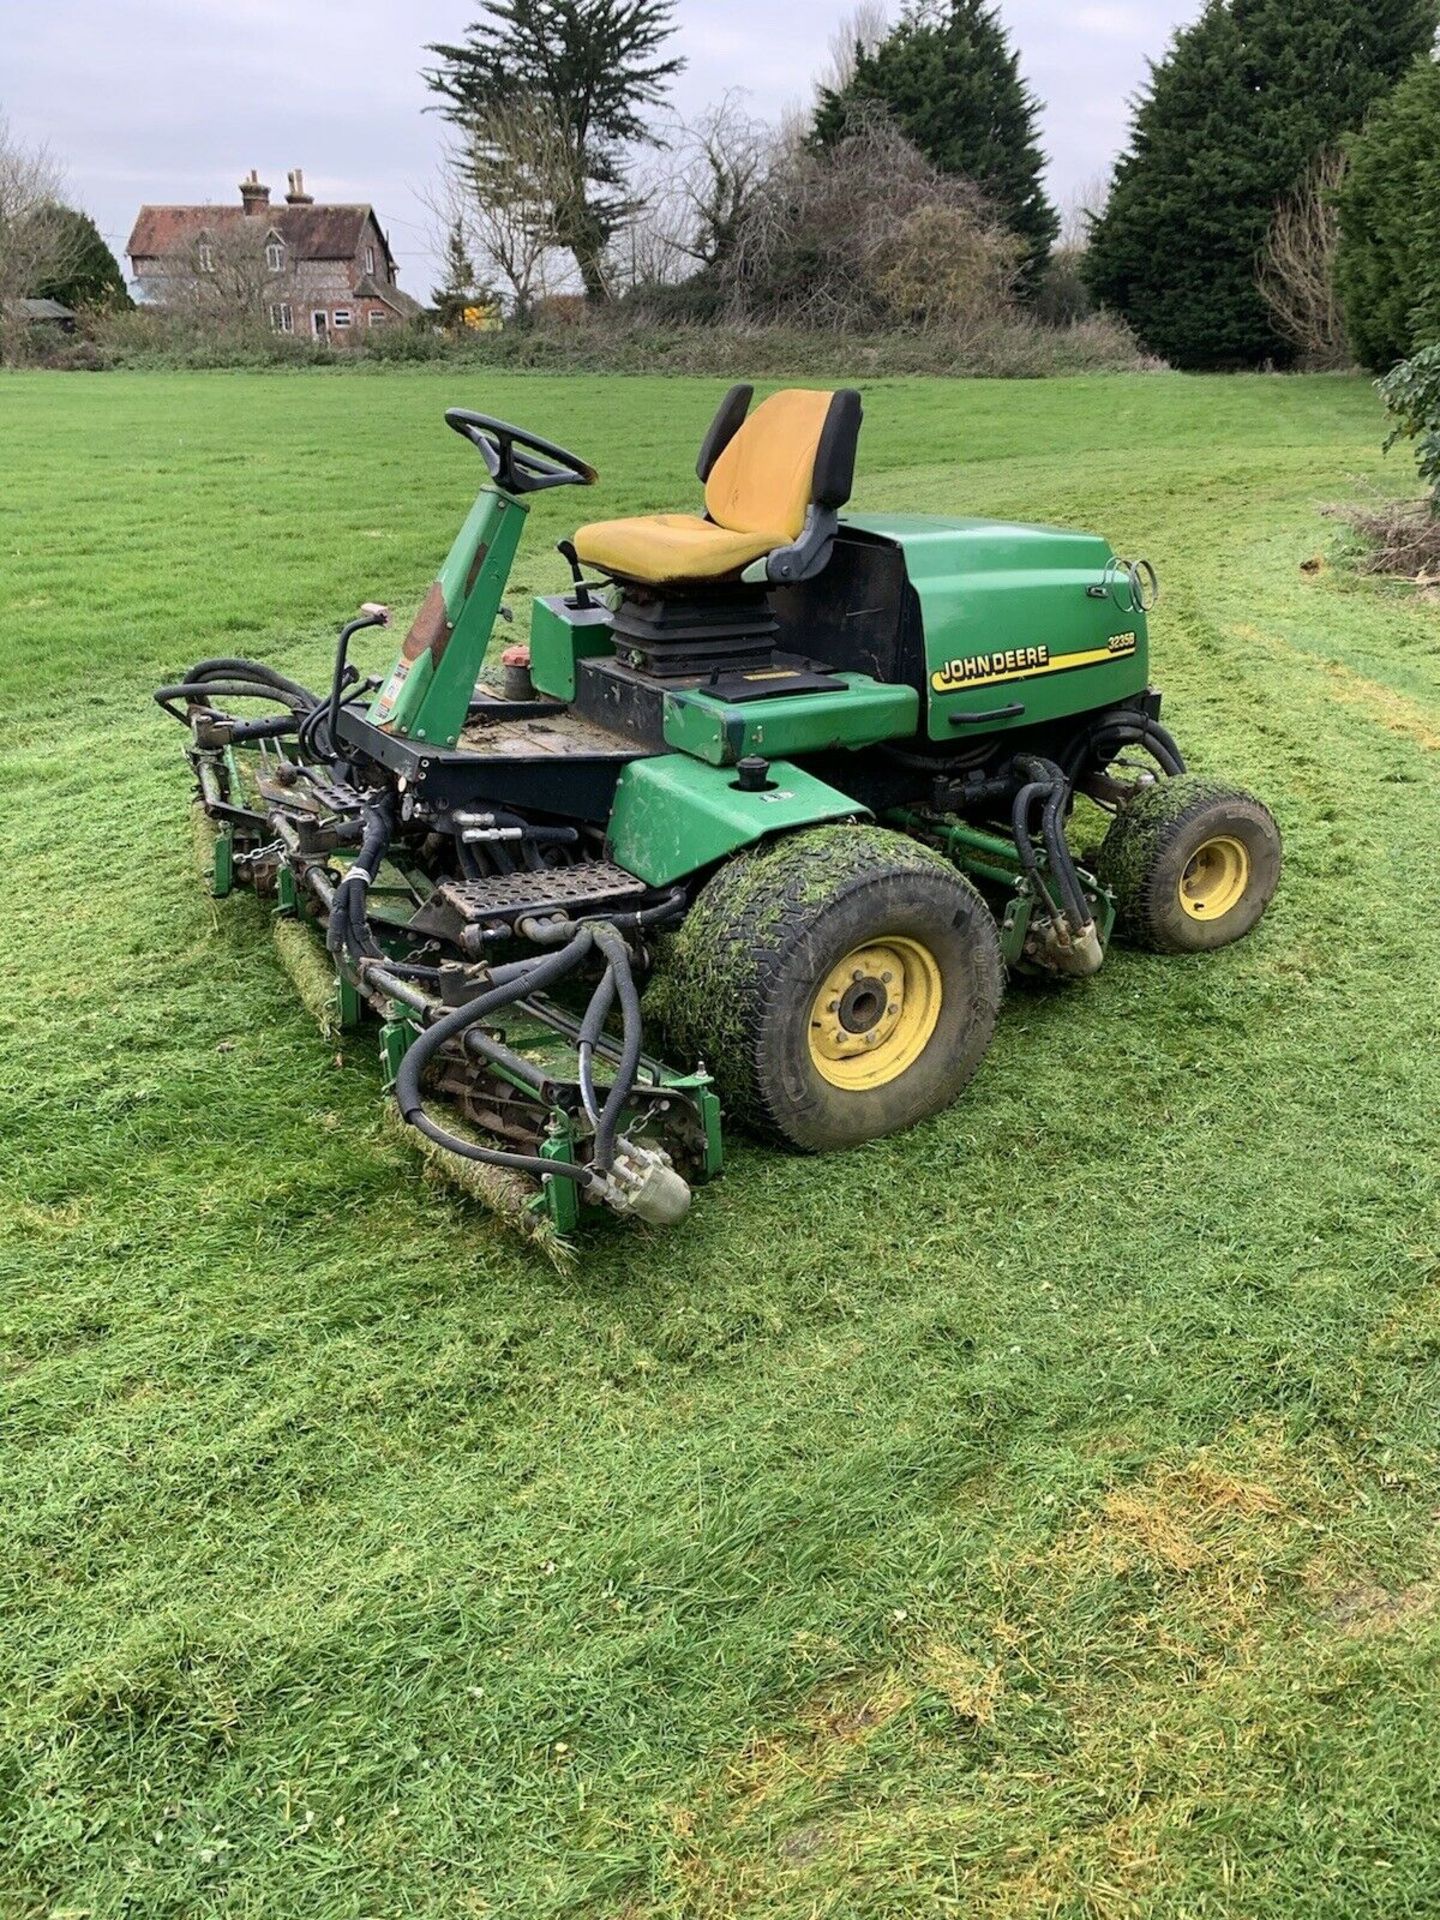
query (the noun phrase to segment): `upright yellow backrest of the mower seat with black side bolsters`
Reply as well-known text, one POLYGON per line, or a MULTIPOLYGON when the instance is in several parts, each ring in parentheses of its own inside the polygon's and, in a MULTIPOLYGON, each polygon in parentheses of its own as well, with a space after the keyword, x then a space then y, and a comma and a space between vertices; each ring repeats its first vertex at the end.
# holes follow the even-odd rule
POLYGON ((812 505, 843 507, 851 497, 858 436, 860 396, 851 388, 772 394, 714 457, 705 511, 732 534, 799 540, 812 505))

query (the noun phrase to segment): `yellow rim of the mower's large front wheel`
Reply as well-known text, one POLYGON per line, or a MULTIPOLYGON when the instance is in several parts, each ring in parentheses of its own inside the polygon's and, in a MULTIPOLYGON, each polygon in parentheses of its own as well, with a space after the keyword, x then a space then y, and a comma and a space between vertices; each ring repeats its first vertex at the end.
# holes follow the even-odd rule
POLYGON ((941 970, 920 941, 887 935, 856 947, 810 1002, 816 1073, 845 1092, 887 1087, 929 1046, 941 1000, 941 970))

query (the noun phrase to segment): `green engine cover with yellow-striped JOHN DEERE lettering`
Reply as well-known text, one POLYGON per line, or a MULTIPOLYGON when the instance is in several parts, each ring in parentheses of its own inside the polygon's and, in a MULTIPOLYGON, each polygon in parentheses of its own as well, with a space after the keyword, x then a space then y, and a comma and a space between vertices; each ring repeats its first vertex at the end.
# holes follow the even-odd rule
POLYGON ((925 624, 925 733, 1110 707, 1148 680, 1144 612, 1110 541, 1058 526, 847 515, 904 551, 925 624))

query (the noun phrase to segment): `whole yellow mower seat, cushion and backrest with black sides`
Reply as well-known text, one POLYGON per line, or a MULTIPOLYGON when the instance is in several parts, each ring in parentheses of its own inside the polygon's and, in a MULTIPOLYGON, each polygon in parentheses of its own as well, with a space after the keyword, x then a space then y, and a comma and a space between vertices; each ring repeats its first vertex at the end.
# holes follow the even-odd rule
POLYGON ((751 388, 730 390, 701 449, 705 518, 647 513, 597 520, 574 536, 576 555, 601 572, 653 586, 726 580, 793 547, 816 503, 845 505, 860 426, 858 396, 789 388, 747 417, 749 399, 751 388), (837 401, 845 405, 837 409, 837 401), (837 424, 828 428, 831 419, 837 424))

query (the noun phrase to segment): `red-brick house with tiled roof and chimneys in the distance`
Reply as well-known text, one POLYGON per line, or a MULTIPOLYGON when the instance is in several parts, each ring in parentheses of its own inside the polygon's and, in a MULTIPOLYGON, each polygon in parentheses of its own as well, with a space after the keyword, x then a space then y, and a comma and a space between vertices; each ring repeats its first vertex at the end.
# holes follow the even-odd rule
POLYGON ((298 167, 282 207, 253 169, 240 205, 140 207, 125 252, 142 301, 259 305, 276 332, 336 346, 422 311, 374 207, 317 205, 298 167))

